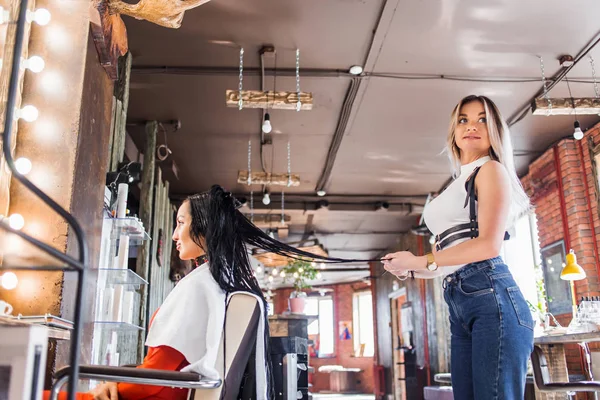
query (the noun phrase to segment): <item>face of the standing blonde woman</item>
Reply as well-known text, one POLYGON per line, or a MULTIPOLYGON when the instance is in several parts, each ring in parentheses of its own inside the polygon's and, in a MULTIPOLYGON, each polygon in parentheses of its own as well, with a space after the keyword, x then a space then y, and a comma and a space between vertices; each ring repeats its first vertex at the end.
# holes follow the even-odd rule
POLYGON ((487 115, 481 102, 471 101, 463 104, 454 134, 456 145, 460 149, 462 164, 488 155, 490 137, 487 129, 487 115))

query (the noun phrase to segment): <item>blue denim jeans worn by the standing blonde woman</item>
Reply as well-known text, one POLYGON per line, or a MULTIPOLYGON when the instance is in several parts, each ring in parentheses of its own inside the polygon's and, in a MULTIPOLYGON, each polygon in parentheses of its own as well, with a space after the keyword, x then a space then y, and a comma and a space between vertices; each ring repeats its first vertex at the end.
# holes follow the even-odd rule
POLYGON ((444 278, 450 309, 455 400, 521 400, 533 350, 533 318, 500 257, 444 278))

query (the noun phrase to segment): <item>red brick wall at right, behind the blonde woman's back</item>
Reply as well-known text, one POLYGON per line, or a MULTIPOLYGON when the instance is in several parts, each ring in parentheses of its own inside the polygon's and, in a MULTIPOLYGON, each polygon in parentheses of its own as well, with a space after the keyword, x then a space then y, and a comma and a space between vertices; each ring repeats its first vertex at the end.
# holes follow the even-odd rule
MULTIPOLYGON (((573 249, 579 265, 586 271, 587 279, 575 282, 577 298, 600 296, 597 254, 600 218, 591 156, 591 149, 598 143, 600 124, 589 129, 581 141, 563 139, 549 148, 530 164, 528 174, 521 179, 535 206, 540 247, 564 240, 567 252, 573 249)), ((571 320, 570 314, 556 317, 563 326, 571 320)), ((577 346, 567 349, 567 362, 571 373, 582 373, 577 346)))

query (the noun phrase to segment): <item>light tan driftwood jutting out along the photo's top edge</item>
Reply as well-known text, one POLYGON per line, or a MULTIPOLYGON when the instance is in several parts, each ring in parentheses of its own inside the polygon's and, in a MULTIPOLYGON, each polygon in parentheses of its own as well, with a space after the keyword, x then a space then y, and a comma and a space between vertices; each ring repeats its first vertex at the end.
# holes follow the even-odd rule
POLYGON ((145 19, 165 28, 177 29, 181 26, 183 14, 210 0, 139 0, 128 4, 121 0, 107 0, 113 14, 128 15, 135 19, 145 19))

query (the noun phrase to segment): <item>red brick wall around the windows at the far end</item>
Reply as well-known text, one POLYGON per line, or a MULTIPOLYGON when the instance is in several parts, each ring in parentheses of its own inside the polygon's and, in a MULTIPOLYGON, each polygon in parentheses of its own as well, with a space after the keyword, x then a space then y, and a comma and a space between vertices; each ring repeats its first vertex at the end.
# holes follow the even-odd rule
MULTIPOLYGON (((315 373, 311 376, 313 385, 312 392, 321 392, 329 390, 329 374, 319 373, 318 369, 323 365, 342 365, 349 368, 360 368, 362 372, 358 374, 360 383, 358 390, 362 393, 374 393, 374 359, 373 357, 354 357, 354 341, 340 340, 338 336, 339 321, 352 321, 353 301, 352 296, 355 292, 370 289, 370 286, 363 283, 349 283, 329 286, 333 289, 334 310, 334 329, 335 332, 335 356, 330 358, 310 359, 310 366, 314 367, 315 373)), ((280 289, 276 291, 274 297, 274 309, 276 314, 280 314, 288 309, 287 300, 290 297, 291 289, 280 289)))

